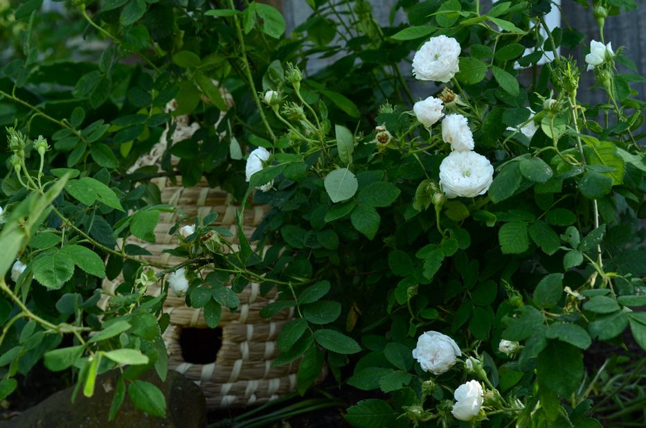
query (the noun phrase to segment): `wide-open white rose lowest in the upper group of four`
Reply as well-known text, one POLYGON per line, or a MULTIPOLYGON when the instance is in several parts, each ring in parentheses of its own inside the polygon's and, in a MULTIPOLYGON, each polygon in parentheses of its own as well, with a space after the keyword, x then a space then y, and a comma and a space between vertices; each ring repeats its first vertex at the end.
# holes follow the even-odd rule
POLYGON ((451 152, 440 163, 440 186, 448 198, 484 195, 494 181, 494 167, 476 152, 451 152))

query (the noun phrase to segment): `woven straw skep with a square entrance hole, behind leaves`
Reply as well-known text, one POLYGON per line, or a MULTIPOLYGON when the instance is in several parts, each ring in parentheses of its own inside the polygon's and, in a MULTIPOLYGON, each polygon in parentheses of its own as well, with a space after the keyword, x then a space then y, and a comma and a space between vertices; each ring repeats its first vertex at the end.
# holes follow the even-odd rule
MULTIPOLYGON (((188 125, 188 121, 178 121, 178 130, 173 134, 176 139, 190 137, 197 127, 188 125), (183 125, 180 127, 180 125, 183 125), (188 135, 188 136, 187 136, 188 135)), ((161 142, 155 145, 152 151, 141 159, 136 168, 160 164, 161 155, 165 150, 165 135, 161 142)), ((195 188, 181 187, 181 179, 173 184, 166 177, 152 180, 161 190, 162 204, 172 204, 177 210, 183 211, 188 216, 199 215, 204 217, 209 213, 217 212, 219 215, 213 226, 226 226, 236 235, 236 211, 231 195, 217 188, 209 188, 206 180, 195 188)), ((251 206, 244 213, 244 233, 249 238, 265 213, 263 206, 251 206)), ((147 260, 163 265, 177 265, 184 261, 181 258, 162 253, 164 249, 177 246, 179 238, 169 235, 168 231, 178 220, 177 213, 161 213, 159 223, 155 229, 156 240, 154 243, 143 242, 129 238, 128 242, 137 244, 149 251, 152 255, 145 256, 147 260)), ((114 295, 116 287, 122 278, 113 281, 106 280, 103 289, 106 294, 114 295)), ((159 294, 160 287, 151 287, 150 294, 159 294)), ((222 310, 222 319, 218 328, 222 329, 222 346, 217 351, 215 362, 210 364, 191 364, 184 361, 180 344, 180 335, 183 328, 208 328, 201 309, 186 306, 184 298, 169 292, 164 303, 164 312, 170 314, 170 326, 164 333, 164 340, 168 349, 169 368, 179 371, 193 380, 204 391, 209 409, 222 409, 229 407, 244 407, 251 404, 267 402, 280 395, 285 395, 296 389, 296 373, 299 361, 285 366, 271 366, 271 362, 278 355, 276 339, 281 328, 293 317, 293 308, 284 310, 272 319, 263 319, 260 310, 267 303, 273 301, 276 293, 269 295, 260 294, 260 285, 251 283, 247 285, 240 296, 240 307, 232 313, 222 310)), ((213 344, 217 346, 217 344, 213 344)), ((324 373, 322 373, 323 375, 324 373)))

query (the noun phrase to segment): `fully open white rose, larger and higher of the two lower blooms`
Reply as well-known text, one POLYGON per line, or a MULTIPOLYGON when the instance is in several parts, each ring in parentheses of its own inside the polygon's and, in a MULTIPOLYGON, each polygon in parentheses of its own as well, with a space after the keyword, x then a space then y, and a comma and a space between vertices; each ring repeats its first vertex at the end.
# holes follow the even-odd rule
POLYGON ((462 352, 454 339, 434 331, 421 335, 418 346, 413 349, 413 358, 418 360, 422 370, 430 371, 433 375, 449 371, 460 355, 462 352))

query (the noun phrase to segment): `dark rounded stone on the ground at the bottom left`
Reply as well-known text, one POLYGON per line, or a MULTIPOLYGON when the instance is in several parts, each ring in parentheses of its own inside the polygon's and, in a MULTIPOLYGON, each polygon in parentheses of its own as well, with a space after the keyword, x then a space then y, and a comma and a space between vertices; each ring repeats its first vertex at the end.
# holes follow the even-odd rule
POLYGON ((115 420, 108 422, 117 373, 101 375, 92 398, 78 393, 71 403, 73 388, 59 391, 20 416, 0 422, 0 428, 204 428, 206 400, 199 386, 176 371, 169 371, 161 382, 152 371, 141 377, 155 384, 166 398, 166 418, 148 416, 126 396, 115 420), (106 391, 108 390, 108 392, 106 391))

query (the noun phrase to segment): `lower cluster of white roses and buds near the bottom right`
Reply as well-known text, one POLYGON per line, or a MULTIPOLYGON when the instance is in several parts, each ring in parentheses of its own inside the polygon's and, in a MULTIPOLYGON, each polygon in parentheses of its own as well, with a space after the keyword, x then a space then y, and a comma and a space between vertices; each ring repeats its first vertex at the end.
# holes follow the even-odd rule
MULTIPOLYGON (((499 350, 505 355, 514 355, 519 350, 516 341, 501 340, 499 350)), ((440 332, 428 331, 418 337, 418 344, 413 349, 413 358, 416 359, 423 371, 441 375, 453 367, 462 351, 456 341, 440 332)), ((468 373, 474 373, 486 380, 486 373, 480 359, 467 357, 465 367, 468 373)), ((458 386, 454 392, 456 403, 451 413, 458 420, 472 420, 480 413, 484 402, 484 390, 477 380, 469 380, 458 386)))

